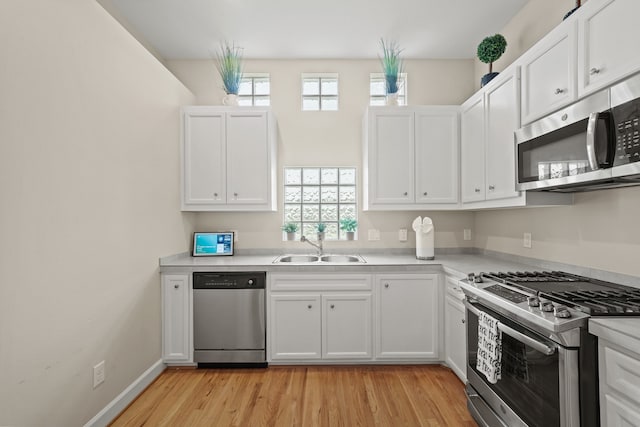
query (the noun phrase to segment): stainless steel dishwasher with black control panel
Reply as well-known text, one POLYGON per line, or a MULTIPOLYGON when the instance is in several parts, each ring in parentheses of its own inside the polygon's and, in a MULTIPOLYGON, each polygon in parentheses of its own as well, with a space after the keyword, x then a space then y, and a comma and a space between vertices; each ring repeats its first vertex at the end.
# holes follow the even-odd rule
POLYGON ((193 273, 193 359, 266 366, 265 272, 193 273))

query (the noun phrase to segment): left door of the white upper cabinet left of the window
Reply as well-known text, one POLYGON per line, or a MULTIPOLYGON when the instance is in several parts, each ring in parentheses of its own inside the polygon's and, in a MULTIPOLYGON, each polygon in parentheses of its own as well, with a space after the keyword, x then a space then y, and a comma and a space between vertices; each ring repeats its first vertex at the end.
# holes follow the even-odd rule
POLYGON ((225 204, 225 115, 195 108, 183 120, 183 209, 225 204))

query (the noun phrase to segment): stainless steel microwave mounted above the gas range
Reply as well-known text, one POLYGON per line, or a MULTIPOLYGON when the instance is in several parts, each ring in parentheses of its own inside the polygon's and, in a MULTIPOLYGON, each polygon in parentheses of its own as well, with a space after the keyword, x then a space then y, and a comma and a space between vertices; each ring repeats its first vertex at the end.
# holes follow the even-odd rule
POLYGON ((640 185, 640 74, 515 132, 519 191, 640 185))

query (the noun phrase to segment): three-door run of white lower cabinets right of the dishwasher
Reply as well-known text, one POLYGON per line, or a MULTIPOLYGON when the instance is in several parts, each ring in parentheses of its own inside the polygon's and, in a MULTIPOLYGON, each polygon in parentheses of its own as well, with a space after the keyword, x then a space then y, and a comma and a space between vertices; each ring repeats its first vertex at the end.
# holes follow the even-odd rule
POLYGON ((442 360, 439 274, 269 279, 269 362, 442 360))

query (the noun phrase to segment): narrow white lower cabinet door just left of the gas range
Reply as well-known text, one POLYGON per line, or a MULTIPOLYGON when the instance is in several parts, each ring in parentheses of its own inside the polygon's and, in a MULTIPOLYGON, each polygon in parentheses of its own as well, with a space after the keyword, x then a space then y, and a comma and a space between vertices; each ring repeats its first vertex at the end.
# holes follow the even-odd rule
POLYGON ((465 332, 464 305, 462 301, 447 295, 444 307, 444 336, 446 362, 453 372, 466 381, 467 343, 465 332))

